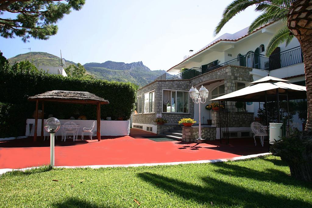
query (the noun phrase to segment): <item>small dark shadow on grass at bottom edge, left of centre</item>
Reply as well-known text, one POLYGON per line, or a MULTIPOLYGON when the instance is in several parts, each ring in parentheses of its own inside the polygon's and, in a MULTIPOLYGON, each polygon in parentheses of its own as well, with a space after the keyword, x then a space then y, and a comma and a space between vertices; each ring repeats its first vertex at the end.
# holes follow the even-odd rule
MULTIPOLYGON (((53 203, 51 207, 84 207, 84 208, 108 208, 108 207, 111 207, 111 206, 105 206, 105 205, 101 205, 101 206, 98 206, 94 203, 90 203, 88 201, 83 201, 83 200, 80 200, 80 199, 77 199, 77 198, 69 198, 67 199, 66 201, 62 201, 62 202, 59 202, 59 203, 53 203)), ((114 206, 116 207, 116 206, 114 206)))

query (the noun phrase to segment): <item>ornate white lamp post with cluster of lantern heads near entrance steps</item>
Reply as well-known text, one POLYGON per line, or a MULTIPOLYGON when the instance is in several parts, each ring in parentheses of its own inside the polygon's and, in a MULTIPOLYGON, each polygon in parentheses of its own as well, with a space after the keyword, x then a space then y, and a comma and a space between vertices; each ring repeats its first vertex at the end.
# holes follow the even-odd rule
POLYGON ((188 94, 192 98, 193 102, 199 105, 199 127, 198 127, 198 140, 202 139, 202 122, 200 121, 200 104, 206 103, 206 99, 208 98, 209 91, 206 87, 202 86, 199 91, 192 86, 188 94))

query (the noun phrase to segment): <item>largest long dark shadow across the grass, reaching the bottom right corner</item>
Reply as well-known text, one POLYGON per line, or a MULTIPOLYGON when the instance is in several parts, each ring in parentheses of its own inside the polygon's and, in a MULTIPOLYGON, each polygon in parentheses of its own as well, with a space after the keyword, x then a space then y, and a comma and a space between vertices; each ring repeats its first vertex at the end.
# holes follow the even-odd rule
POLYGON ((180 181, 158 174, 144 172, 138 176, 144 181, 185 200, 194 200, 199 204, 216 206, 243 206, 243 207, 311 207, 312 204, 297 199, 275 196, 266 191, 246 189, 239 185, 216 180, 212 177, 202 177, 204 185, 180 181))

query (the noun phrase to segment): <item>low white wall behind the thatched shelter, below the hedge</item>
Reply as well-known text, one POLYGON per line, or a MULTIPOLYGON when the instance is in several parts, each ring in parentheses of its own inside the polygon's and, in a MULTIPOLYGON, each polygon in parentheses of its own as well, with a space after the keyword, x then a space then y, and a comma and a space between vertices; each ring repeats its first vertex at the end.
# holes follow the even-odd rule
MULTIPOLYGON (((44 119, 44 122, 46 119, 44 119)), ((61 124, 67 121, 72 121, 76 124, 80 124, 78 135, 81 135, 83 127, 90 128, 94 120, 63 120, 61 124)), ((33 136, 35 132, 35 119, 27 119, 26 121, 26 136, 33 136), (29 134, 29 124, 32 123, 32 132, 29 134)), ((93 135, 96 133, 96 121, 93 129, 93 135)), ((130 134, 130 121, 101 121, 101 136, 126 136, 130 134)), ((44 135, 48 135, 47 132, 44 135)), ((61 130, 56 133, 57 136, 61 136, 61 130)), ((37 136, 41 136, 41 119, 38 119, 37 136)))

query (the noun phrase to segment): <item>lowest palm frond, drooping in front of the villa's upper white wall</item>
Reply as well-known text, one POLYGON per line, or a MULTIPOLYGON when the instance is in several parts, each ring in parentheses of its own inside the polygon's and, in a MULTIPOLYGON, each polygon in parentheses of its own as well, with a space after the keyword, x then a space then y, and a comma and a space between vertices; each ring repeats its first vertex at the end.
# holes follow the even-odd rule
POLYGON ((271 53, 283 42, 289 44, 294 36, 290 33, 287 26, 282 27, 276 32, 276 34, 271 38, 268 46, 266 47, 266 56, 270 56, 271 53))

